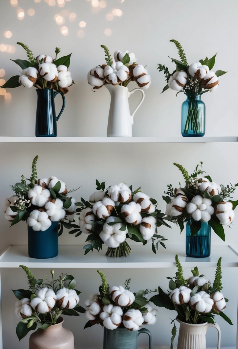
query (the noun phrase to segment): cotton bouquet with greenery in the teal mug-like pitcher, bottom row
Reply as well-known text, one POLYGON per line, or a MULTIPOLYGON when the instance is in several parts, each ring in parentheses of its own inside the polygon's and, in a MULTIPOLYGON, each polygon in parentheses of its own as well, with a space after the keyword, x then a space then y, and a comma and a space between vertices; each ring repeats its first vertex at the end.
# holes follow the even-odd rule
POLYGON ((102 285, 99 294, 91 296, 85 301, 85 316, 88 319, 84 328, 100 324, 108 329, 126 328, 137 331, 142 325, 154 325, 156 322, 156 309, 149 305, 145 297, 157 290, 130 291, 131 279, 125 281, 125 287, 113 286, 109 288, 106 276, 97 270, 101 276, 102 285))

